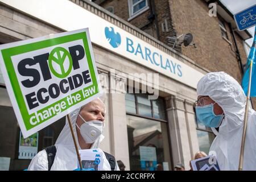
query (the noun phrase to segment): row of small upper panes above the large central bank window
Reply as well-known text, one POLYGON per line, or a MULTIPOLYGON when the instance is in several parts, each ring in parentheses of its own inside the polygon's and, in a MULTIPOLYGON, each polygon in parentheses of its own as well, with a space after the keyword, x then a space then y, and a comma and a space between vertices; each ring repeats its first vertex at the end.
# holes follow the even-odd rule
POLYGON ((164 98, 148 100, 148 94, 126 93, 126 113, 137 114, 142 117, 166 120, 164 98))

